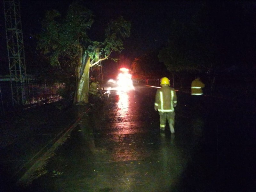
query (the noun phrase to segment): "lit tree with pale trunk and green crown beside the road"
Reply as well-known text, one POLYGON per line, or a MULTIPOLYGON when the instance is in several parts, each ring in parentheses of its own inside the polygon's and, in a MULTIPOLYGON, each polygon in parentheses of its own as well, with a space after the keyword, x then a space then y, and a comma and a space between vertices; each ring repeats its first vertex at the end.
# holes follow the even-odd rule
POLYGON ((87 33, 92 24, 92 12, 81 1, 75 1, 65 16, 56 10, 47 11, 37 36, 37 47, 48 55, 52 66, 58 70, 73 68, 74 103, 88 103, 89 69, 110 58, 112 52, 123 50, 123 40, 130 36, 131 24, 120 17, 108 23, 105 40, 92 41, 87 33))

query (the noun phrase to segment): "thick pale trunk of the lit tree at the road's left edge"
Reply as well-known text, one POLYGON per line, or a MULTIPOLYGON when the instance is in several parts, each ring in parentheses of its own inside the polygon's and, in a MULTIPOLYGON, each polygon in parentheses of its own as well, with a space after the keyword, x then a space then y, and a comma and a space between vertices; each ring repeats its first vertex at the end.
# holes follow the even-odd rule
POLYGON ((78 102, 89 102, 89 72, 90 72, 90 57, 83 56, 81 64, 76 69, 76 92, 74 104, 78 102))

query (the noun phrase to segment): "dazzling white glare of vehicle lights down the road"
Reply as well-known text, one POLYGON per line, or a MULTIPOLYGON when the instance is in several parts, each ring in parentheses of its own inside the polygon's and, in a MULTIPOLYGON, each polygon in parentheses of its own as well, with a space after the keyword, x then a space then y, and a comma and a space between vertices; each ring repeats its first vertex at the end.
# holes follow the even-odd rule
POLYGON ((127 92, 129 90, 134 90, 133 84, 132 84, 132 75, 129 74, 129 69, 127 68, 120 68, 120 73, 117 76, 117 80, 109 79, 108 84, 111 86, 107 90, 116 90, 116 91, 122 91, 127 92))

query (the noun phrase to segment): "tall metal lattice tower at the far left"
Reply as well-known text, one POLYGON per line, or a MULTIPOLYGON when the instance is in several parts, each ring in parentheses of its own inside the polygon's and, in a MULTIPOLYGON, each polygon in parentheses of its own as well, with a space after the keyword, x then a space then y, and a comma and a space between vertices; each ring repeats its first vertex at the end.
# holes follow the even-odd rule
POLYGON ((26 94, 23 84, 27 82, 27 74, 19 0, 4 0, 4 20, 12 88, 12 104, 24 104, 26 94))

